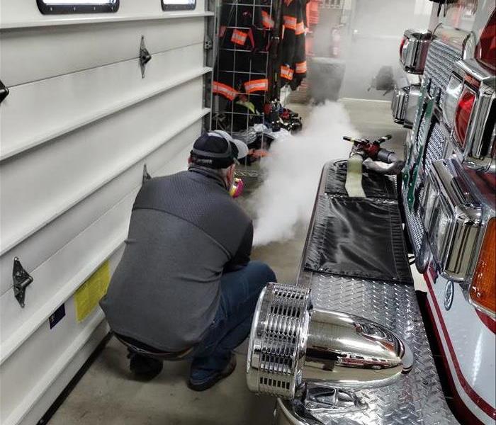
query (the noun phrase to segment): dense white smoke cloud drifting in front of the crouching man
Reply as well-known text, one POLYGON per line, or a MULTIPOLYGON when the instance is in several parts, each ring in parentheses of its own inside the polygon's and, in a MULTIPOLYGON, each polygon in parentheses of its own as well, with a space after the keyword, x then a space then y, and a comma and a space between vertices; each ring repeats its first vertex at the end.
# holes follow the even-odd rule
POLYGON ((254 245, 291 239, 296 225, 308 224, 322 166, 349 155, 344 135, 359 134, 344 106, 327 102, 312 108, 302 132, 272 143, 261 162, 264 181, 249 200, 256 211, 254 245))

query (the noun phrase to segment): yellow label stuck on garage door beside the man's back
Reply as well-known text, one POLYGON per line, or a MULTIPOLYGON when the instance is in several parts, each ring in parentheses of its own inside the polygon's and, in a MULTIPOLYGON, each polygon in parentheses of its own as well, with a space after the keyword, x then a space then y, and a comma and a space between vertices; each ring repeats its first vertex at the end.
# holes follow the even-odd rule
POLYGON ((101 297, 107 293, 111 272, 108 261, 105 261, 98 270, 84 282, 74 294, 76 304, 76 318, 82 322, 98 305, 101 297))

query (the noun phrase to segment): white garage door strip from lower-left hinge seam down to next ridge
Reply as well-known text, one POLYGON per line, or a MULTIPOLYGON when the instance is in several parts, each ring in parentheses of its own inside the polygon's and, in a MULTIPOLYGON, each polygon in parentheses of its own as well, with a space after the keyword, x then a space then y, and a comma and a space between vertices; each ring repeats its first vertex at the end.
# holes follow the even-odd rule
MULTIPOLYGON (((154 175, 171 174, 186 169, 186 156, 191 140, 201 128, 201 121, 193 124, 145 160, 154 175), (165 165, 164 165, 165 164, 165 165)), ((0 298, 1 358, 6 361, 33 332, 43 325, 53 311, 74 293, 98 264, 123 244, 128 233, 130 212, 141 186, 141 170, 130 169, 137 177, 133 188, 104 215, 55 254, 30 271, 33 283, 26 291, 26 307, 18 305, 12 288, 0 298)), ((89 202, 89 200, 87 200, 89 202)), ((98 205, 96 205, 98 207, 98 205)), ((45 251, 45 250, 43 250, 45 251)))

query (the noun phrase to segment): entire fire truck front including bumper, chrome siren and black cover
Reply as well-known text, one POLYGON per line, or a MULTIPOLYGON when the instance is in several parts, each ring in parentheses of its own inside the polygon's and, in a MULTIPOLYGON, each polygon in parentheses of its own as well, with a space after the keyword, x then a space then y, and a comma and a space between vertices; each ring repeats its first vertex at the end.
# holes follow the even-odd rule
POLYGON ((495 29, 494 1, 434 0, 400 41, 401 173, 363 167, 392 154, 364 139, 323 169, 298 282, 269 285, 250 336, 276 424, 495 423, 495 29))

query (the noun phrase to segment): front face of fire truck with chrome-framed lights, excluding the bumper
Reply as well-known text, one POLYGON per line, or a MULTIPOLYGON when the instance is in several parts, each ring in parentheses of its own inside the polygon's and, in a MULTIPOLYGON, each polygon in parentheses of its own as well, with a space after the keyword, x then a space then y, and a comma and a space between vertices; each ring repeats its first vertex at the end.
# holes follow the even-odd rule
POLYGON ((490 1, 434 4, 407 30, 393 117, 405 142, 402 210, 440 367, 458 419, 495 411, 496 12, 490 1))

